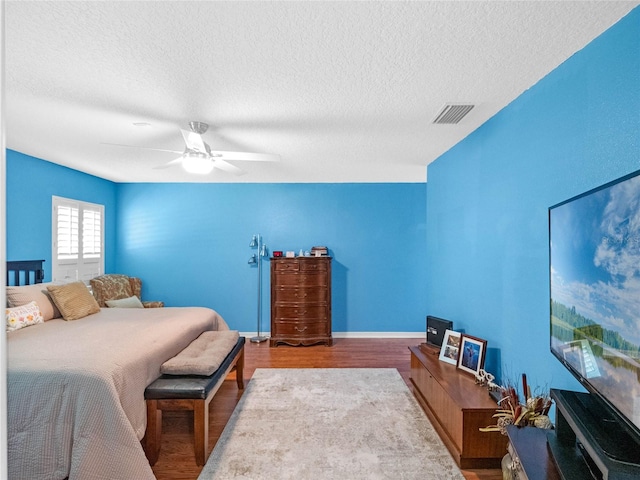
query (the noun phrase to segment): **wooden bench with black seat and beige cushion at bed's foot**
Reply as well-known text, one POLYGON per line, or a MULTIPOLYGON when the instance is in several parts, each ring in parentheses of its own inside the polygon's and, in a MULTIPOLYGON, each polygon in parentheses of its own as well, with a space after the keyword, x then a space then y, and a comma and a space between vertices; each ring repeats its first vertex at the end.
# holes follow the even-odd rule
MULTIPOLYGON (((162 440, 162 411, 192 410, 193 436, 196 464, 204 465, 209 455, 209 403, 226 376, 235 369, 239 389, 244 388, 244 343, 245 338, 237 340, 229 350, 230 332, 204 332, 181 353, 163 364, 163 374, 151 383, 144 392, 147 403, 147 431, 143 446, 147 459, 154 465, 160 454, 162 440), (224 334, 225 341, 220 335, 224 334), (222 347, 221 347, 222 344, 222 347), (212 367, 211 357, 220 356, 225 350, 219 366, 207 374, 212 367), (167 373, 173 372, 173 373, 167 373), (198 372, 199 374, 184 373, 198 372)), ((234 339, 235 340, 235 339, 234 339)))

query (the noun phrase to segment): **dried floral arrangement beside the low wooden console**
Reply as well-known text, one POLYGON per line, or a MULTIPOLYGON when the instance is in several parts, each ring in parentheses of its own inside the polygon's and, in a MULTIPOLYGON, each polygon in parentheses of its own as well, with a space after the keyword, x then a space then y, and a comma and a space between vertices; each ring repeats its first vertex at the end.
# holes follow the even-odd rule
POLYGON ((525 401, 521 402, 518 389, 514 385, 501 387, 502 397, 498 402, 499 408, 496 414, 496 425, 481 428, 481 432, 500 432, 507 434, 508 425, 518 427, 553 428, 549 419, 549 410, 552 400, 548 393, 532 394, 527 384, 527 376, 522 374, 522 389, 525 394, 525 401))

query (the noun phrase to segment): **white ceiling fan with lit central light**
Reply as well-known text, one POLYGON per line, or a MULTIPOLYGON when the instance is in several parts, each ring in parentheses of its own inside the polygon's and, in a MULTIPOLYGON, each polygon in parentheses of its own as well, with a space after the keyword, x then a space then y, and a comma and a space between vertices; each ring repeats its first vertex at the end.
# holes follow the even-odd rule
POLYGON ((180 156, 175 160, 171 160, 163 165, 154 167, 155 169, 169 168, 175 165, 182 165, 188 173, 206 175, 211 173, 214 168, 233 173, 234 175, 243 175, 246 172, 239 167, 229 163, 227 160, 257 161, 257 162, 275 162, 280 160, 279 155, 268 153, 248 153, 248 152, 221 152, 211 150, 211 147, 202 139, 202 135, 208 130, 209 125, 204 122, 189 122, 190 132, 180 129, 184 138, 184 151, 166 150, 161 148, 139 147, 134 145, 116 145, 120 147, 144 148, 147 150, 155 150, 158 152, 179 153, 180 156))

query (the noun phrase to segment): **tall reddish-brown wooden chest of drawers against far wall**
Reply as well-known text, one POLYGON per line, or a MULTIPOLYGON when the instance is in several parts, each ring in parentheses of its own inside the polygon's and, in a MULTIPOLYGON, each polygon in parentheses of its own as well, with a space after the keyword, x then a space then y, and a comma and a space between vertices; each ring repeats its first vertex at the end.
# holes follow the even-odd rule
POLYGON ((331 258, 271 259, 272 347, 331 346, 331 258))

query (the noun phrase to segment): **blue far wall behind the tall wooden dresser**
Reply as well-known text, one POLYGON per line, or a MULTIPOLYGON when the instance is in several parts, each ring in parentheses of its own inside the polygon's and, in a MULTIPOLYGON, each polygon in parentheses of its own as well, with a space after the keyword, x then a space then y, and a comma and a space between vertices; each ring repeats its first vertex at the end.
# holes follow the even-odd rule
MULTIPOLYGON (((422 332, 425 184, 121 184, 116 270, 143 297, 216 309, 255 331, 253 234, 269 251, 329 247, 334 332, 422 332)), ((269 330, 269 261, 263 260, 269 330)))

